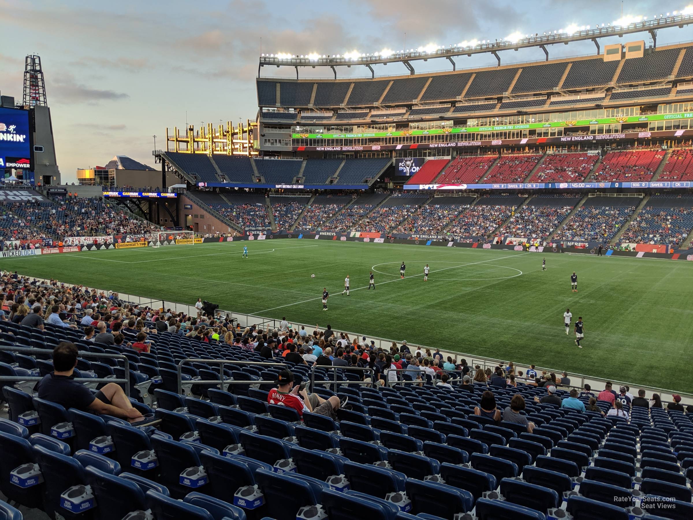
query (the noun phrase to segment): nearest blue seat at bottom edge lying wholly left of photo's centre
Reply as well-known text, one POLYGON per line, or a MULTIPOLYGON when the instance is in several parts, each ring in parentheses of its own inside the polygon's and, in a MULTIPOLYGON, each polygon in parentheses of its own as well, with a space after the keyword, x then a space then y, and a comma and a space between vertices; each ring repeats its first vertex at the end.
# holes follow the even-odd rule
POLYGON ((304 505, 317 505, 319 492, 301 478, 258 469, 255 480, 265 496, 265 514, 276 520, 295 520, 304 505))

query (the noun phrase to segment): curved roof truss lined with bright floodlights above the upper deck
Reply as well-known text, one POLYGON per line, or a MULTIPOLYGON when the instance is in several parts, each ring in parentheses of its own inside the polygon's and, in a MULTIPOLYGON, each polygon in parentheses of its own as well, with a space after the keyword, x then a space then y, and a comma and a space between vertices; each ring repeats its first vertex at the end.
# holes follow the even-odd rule
POLYGON ((337 78, 337 69, 335 67, 351 67, 352 65, 363 65, 371 71, 371 77, 375 77, 375 71, 372 65, 388 64, 400 62, 409 69, 410 74, 414 74, 414 67, 411 62, 415 60, 431 60, 433 58, 446 58, 453 64, 455 70, 455 61, 453 58, 457 56, 471 56, 472 54, 491 53, 498 60, 500 66, 499 51, 509 51, 518 49, 527 49, 529 47, 539 47, 546 55, 546 60, 549 59, 549 51, 547 45, 554 44, 569 44, 570 42, 579 42, 592 40, 597 46, 597 54, 599 54, 599 38, 608 36, 622 37, 626 34, 633 33, 650 33, 652 40, 656 46, 657 31, 664 28, 678 27, 683 28, 685 25, 693 24, 693 12, 686 14, 674 14, 671 16, 659 15, 653 19, 643 19, 642 21, 633 22, 626 26, 602 24, 595 28, 585 28, 574 32, 549 31, 548 33, 535 33, 524 38, 519 38, 515 41, 510 40, 483 40, 482 42, 471 42, 471 45, 462 44, 457 46, 441 46, 437 49, 407 49, 400 52, 390 52, 387 55, 383 53, 367 53, 360 55, 288 55, 288 54, 262 54, 258 64, 258 78, 260 77, 260 69, 265 65, 274 65, 275 67, 295 67, 296 78, 299 76, 299 67, 331 67, 337 78))

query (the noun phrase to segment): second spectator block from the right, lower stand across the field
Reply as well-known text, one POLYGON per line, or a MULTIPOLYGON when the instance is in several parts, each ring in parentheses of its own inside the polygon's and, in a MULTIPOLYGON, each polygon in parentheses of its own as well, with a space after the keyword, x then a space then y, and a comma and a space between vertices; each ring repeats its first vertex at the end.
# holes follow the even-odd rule
POLYGON ((635 207, 583 206, 554 235, 556 240, 604 241, 613 238, 635 207))

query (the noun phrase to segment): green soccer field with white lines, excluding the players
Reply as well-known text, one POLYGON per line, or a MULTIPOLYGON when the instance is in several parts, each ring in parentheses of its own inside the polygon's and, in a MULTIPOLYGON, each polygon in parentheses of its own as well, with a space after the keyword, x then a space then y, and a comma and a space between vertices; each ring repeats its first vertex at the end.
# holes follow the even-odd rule
POLYGON ((1 259, 0 268, 682 392, 693 382, 690 262, 283 239, 1 259), (582 349, 572 328, 565 335, 566 307, 583 317, 582 349))

